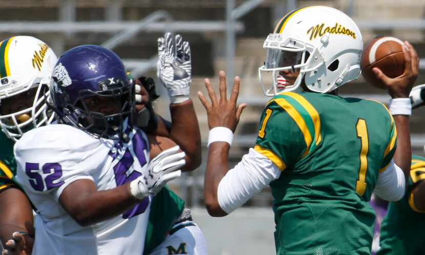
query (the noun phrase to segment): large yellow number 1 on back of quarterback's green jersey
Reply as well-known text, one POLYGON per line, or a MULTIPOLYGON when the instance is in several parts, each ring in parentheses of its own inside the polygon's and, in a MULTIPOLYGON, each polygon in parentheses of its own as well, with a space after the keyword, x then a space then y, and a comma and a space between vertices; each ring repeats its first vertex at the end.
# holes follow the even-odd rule
POLYGON ((368 171, 369 136, 366 121, 358 119, 356 124, 357 138, 360 139, 360 169, 356 182, 356 192, 363 195, 366 191, 366 173, 368 171))

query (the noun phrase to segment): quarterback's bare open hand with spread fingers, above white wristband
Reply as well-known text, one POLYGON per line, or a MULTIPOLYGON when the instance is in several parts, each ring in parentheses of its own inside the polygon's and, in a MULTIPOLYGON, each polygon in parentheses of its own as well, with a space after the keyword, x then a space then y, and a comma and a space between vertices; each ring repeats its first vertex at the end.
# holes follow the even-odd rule
POLYGON ((230 99, 227 100, 226 74, 224 71, 220 71, 219 77, 220 99, 217 98, 216 92, 211 86, 209 79, 205 79, 204 83, 211 103, 205 99, 201 91, 198 91, 198 97, 206 109, 209 129, 226 127, 234 133, 238 126, 241 113, 246 107, 246 104, 240 104, 238 107, 236 106, 241 80, 238 76, 235 77, 230 99))

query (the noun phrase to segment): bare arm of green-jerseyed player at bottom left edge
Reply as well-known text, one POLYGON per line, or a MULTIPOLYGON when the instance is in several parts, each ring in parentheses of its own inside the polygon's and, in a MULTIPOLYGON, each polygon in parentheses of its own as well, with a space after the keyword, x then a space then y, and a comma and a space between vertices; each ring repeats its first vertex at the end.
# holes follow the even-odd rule
POLYGON ((3 245, 16 231, 33 232, 31 204, 24 192, 11 188, 0 192, 0 239, 3 245))

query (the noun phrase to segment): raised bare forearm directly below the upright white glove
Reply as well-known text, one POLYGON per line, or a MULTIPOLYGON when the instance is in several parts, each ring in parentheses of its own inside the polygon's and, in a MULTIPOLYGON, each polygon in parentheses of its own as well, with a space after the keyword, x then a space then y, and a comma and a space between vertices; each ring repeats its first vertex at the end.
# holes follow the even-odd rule
POLYGON ((170 138, 186 153, 182 170, 195 170, 201 164, 201 133, 192 100, 171 104, 172 128, 170 138))

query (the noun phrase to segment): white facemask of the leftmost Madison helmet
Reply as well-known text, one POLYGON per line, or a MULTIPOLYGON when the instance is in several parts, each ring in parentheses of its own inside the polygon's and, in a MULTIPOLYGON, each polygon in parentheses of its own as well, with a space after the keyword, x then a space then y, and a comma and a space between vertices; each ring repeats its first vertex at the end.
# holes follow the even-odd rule
POLYGON ((0 83, 4 87, 0 91, 0 107, 3 106, 0 126, 9 139, 16 142, 25 132, 53 121, 53 113, 48 111, 45 104, 46 95, 41 93, 42 86, 46 85, 44 78, 34 77, 29 83, 19 86, 18 79, 8 76, 2 78, 0 83), (19 100, 18 95, 26 97, 24 108, 7 111, 6 104, 19 104, 16 102, 19 100))

